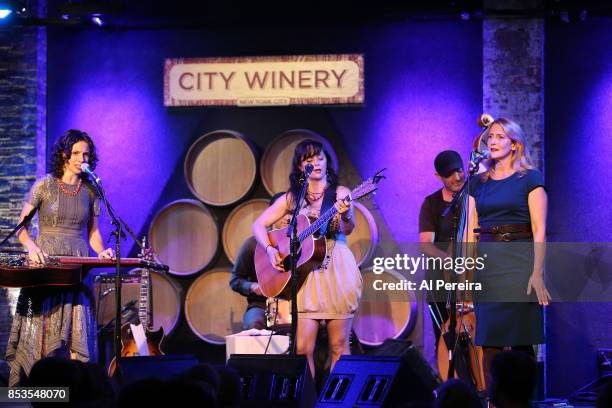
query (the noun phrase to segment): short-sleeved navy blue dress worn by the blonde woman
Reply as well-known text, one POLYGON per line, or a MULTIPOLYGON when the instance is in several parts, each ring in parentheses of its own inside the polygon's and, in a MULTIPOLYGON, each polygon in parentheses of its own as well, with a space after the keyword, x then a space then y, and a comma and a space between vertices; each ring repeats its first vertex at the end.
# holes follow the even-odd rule
MULTIPOLYGON (((544 187, 538 170, 516 172, 502 179, 479 176, 470 183, 481 227, 531 224, 528 195, 544 187)), ((535 291, 527 296, 533 272, 533 240, 479 242, 478 255, 485 256, 485 267, 476 271, 482 291, 474 292, 476 344, 490 347, 522 346, 544 342, 542 307, 535 291), (486 254, 486 255, 485 255, 486 254)))

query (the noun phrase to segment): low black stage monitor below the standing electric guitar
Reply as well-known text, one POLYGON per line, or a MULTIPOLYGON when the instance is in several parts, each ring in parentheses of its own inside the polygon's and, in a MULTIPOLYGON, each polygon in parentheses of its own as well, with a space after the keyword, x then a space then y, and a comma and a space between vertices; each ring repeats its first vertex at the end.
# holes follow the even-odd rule
POLYGON ((200 364, 192 355, 125 357, 119 359, 119 381, 128 384, 143 378, 169 380, 200 364))

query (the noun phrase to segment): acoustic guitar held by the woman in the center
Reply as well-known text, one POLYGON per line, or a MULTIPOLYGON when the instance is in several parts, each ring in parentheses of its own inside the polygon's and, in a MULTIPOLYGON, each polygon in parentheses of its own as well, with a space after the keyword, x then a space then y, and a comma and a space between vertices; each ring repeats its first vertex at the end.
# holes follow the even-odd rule
MULTIPOLYGON (((374 193, 377 189, 377 184, 384 178, 382 172, 385 169, 376 173, 364 181, 351 191, 342 200, 349 203, 351 200, 359 200, 374 193)), ((309 219, 305 215, 297 217, 297 234, 300 242, 298 251, 297 273, 298 273, 298 289, 304 283, 306 276, 313 269, 320 266, 325 256, 327 255, 327 244, 325 236, 316 235, 320 228, 324 226, 338 211, 336 207, 331 207, 325 211, 318 219, 309 219)), ((264 296, 272 298, 289 299, 291 297, 291 281, 292 272, 290 271, 290 239, 287 237, 288 228, 276 229, 268 232, 268 239, 273 247, 278 249, 283 259, 284 271, 280 271, 272 266, 264 248, 259 243, 255 248, 255 272, 257 274, 257 282, 264 296), (287 271, 287 272, 285 272, 287 271)))

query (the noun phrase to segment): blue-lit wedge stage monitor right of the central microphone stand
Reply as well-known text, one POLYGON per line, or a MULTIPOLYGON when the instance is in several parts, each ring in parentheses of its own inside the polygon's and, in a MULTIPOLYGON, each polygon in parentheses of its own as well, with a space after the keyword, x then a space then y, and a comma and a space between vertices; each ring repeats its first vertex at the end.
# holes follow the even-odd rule
POLYGON ((432 402, 440 379, 408 341, 387 340, 368 356, 342 356, 317 407, 395 407, 432 402))

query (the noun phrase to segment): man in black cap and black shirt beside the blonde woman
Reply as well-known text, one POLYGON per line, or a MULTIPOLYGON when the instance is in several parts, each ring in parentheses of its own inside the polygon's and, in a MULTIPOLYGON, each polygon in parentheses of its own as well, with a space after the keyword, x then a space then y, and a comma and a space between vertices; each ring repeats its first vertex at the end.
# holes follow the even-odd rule
MULTIPOLYGON (((461 190, 465 182, 463 160, 454 150, 439 153, 434 160, 436 177, 442 182, 442 188, 428 195, 421 205, 419 214, 419 241, 421 251, 428 257, 446 258, 449 256, 449 241, 452 231, 453 215, 451 212, 443 218, 442 213, 448 207, 453 196, 461 190)), ((444 279, 442 271, 427 271, 427 279, 444 279)), ((436 348, 440 337, 440 326, 448 319, 445 293, 429 293, 429 306, 436 335, 436 348)))

